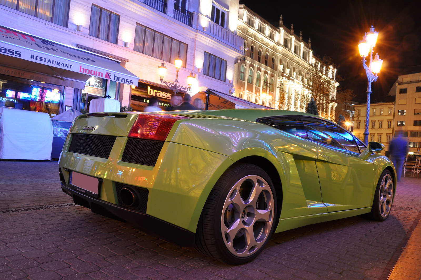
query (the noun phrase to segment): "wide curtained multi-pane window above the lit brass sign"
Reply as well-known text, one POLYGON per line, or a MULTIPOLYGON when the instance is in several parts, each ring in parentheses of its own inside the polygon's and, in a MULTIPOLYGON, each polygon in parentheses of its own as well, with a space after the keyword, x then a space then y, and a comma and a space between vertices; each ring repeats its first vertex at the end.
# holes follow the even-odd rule
POLYGON ((187 44, 141 24, 136 24, 133 50, 170 63, 180 56, 186 67, 187 44))

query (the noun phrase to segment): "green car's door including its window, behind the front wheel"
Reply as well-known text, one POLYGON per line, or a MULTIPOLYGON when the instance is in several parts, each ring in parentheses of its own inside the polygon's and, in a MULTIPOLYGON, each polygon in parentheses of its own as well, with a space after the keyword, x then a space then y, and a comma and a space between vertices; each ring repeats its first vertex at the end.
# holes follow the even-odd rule
POLYGON ((318 143, 317 172, 328 212, 370 207, 373 163, 360 159, 359 144, 345 129, 318 118, 301 117, 309 140, 318 143))

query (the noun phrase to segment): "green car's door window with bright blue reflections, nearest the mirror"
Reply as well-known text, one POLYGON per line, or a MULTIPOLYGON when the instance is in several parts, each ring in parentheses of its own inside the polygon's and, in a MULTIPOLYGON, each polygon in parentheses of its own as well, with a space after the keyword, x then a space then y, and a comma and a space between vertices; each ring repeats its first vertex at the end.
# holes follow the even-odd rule
POLYGON ((316 118, 301 117, 310 140, 360 153, 354 137, 335 124, 316 118))

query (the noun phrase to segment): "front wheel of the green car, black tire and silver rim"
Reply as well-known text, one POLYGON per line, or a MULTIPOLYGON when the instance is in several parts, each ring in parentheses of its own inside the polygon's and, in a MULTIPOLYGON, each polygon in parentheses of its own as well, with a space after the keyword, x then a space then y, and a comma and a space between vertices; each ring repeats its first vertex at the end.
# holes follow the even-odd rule
POLYGON ((392 210, 395 191, 393 182, 392 173, 385 169, 378 179, 371 212, 362 215, 364 218, 382 222, 389 217, 390 211, 392 210), (382 192, 382 194, 380 194, 380 192, 382 192))

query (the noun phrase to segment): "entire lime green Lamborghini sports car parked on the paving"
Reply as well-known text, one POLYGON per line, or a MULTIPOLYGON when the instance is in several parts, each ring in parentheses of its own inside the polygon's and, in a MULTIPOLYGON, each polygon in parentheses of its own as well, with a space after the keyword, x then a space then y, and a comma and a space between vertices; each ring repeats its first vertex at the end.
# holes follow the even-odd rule
POLYGON ((384 221, 396 172, 383 148, 293 111, 90 113, 72 124, 59 170, 76 204, 242 264, 272 232, 384 221))

